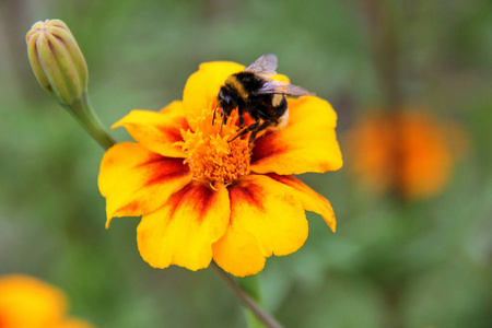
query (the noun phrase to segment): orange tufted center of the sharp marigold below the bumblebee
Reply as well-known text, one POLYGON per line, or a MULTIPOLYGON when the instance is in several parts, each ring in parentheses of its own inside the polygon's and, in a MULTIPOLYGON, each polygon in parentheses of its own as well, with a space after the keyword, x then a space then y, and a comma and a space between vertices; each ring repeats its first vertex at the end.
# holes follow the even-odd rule
POLYGON ((210 110, 196 121, 195 131, 181 130, 183 141, 177 145, 187 154, 185 164, 189 165, 194 178, 207 181, 212 188, 216 184, 231 185, 239 177, 249 174, 249 145, 247 139, 236 138, 237 112, 234 110, 222 126, 221 117, 212 125, 210 110))

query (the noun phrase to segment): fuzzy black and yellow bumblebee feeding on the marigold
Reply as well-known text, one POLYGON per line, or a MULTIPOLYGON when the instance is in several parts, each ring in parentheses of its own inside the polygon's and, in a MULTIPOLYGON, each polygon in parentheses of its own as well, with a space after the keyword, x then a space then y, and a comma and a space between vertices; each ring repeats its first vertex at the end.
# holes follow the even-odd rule
MULTIPOLYGON (((248 132, 249 144, 256 136, 267 129, 281 128, 288 124, 289 108, 285 95, 312 95, 301 86, 272 80, 276 75, 277 56, 263 55, 242 72, 230 75, 221 86, 216 97, 216 107, 221 108, 222 125, 225 124, 232 110, 239 114, 239 131, 231 140, 248 132), (244 127, 244 114, 249 114, 254 124, 244 127)), ((215 110, 214 109, 214 110, 215 110)), ((215 119, 215 112, 212 119, 215 119)))

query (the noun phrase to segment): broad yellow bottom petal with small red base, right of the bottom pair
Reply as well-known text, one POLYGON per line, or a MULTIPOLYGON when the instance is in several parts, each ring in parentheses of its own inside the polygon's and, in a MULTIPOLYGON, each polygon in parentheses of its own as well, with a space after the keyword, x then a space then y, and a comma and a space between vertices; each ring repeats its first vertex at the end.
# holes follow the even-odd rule
POLYGON ((213 259, 237 277, 258 273, 266 257, 296 251, 307 238, 307 220, 292 188, 249 175, 230 187, 231 223, 213 244, 213 259))

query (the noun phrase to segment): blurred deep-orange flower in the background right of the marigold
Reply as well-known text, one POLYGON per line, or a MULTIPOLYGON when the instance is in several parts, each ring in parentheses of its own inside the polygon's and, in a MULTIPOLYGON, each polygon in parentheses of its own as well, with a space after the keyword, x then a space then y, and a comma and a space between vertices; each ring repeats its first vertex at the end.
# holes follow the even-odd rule
POLYGON ((366 117, 348 133, 351 168, 377 191, 432 197, 443 190, 456 154, 464 151, 466 138, 458 131, 421 112, 366 117))

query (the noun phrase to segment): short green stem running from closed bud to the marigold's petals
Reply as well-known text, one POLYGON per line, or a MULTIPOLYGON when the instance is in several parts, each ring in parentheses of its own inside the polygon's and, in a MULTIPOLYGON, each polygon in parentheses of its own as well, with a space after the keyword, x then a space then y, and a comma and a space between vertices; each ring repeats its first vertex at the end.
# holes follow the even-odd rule
POLYGON ((112 148, 116 141, 103 128, 97 115, 92 110, 87 95, 84 93, 80 99, 72 104, 60 103, 70 114, 72 114, 79 124, 87 131, 89 134, 105 150, 112 148))

